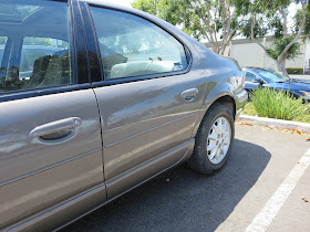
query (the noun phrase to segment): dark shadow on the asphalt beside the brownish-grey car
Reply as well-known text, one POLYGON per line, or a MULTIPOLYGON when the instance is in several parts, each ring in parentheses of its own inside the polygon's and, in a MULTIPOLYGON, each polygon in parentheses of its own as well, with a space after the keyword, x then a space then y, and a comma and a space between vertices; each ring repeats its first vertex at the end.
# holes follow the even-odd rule
POLYGON ((226 167, 206 177, 176 167, 62 231, 214 231, 270 160, 262 147, 235 140, 226 167))

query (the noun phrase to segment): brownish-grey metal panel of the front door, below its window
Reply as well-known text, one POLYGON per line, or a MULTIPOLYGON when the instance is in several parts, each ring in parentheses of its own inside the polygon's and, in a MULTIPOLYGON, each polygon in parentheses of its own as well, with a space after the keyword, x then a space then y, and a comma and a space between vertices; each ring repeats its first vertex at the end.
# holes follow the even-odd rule
POLYGON ((92 89, 4 102, 0 112, 0 228, 103 182, 92 89), (82 120, 72 137, 30 137, 38 126, 69 117, 82 120))

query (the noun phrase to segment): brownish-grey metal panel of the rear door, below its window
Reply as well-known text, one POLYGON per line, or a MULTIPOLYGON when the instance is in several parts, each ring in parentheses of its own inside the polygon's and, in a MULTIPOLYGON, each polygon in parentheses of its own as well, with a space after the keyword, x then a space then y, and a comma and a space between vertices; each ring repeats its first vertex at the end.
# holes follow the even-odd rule
MULTIPOLYGON (((107 182, 117 181, 117 176, 190 139, 206 85, 199 74, 193 71, 94 89, 102 115, 107 182), (189 88, 200 89, 193 102, 182 97, 189 88)), ((178 158, 183 156, 180 154, 178 158)), ((114 192, 107 184, 108 197, 114 192)))

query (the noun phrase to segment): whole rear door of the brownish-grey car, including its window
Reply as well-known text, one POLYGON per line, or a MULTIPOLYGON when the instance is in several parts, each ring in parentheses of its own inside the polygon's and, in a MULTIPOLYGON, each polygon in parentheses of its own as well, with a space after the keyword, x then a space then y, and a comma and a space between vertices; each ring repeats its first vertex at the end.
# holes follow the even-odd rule
POLYGON ((104 81, 93 85, 112 198, 176 164, 193 147, 206 85, 192 44, 132 12, 95 3, 89 9, 104 71, 104 81))

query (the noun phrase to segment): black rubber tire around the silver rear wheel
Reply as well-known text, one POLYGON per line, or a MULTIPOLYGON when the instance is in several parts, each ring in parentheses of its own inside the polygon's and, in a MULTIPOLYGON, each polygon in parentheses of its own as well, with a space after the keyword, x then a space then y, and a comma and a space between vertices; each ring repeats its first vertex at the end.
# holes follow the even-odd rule
MULTIPOLYGON (((235 123, 230 109, 220 104, 213 105, 206 113, 204 119, 202 120, 202 124, 195 137, 194 152, 190 159, 188 160, 188 165, 190 166, 190 168, 204 175, 210 175, 221 169, 231 154, 231 148, 234 145, 234 136, 235 136, 235 123), (211 131, 211 126, 216 124, 218 118, 223 118, 223 117, 226 118, 230 125, 230 131, 231 131, 230 144, 226 152, 226 156, 225 157, 223 156, 224 157, 223 160, 219 161, 218 164, 214 164, 210 161, 208 157, 208 152, 209 152, 207 150, 208 136, 209 133, 211 131)), ((227 140, 229 139, 227 138, 227 140)), ((223 151, 223 154, 225 152, 223 151)))

